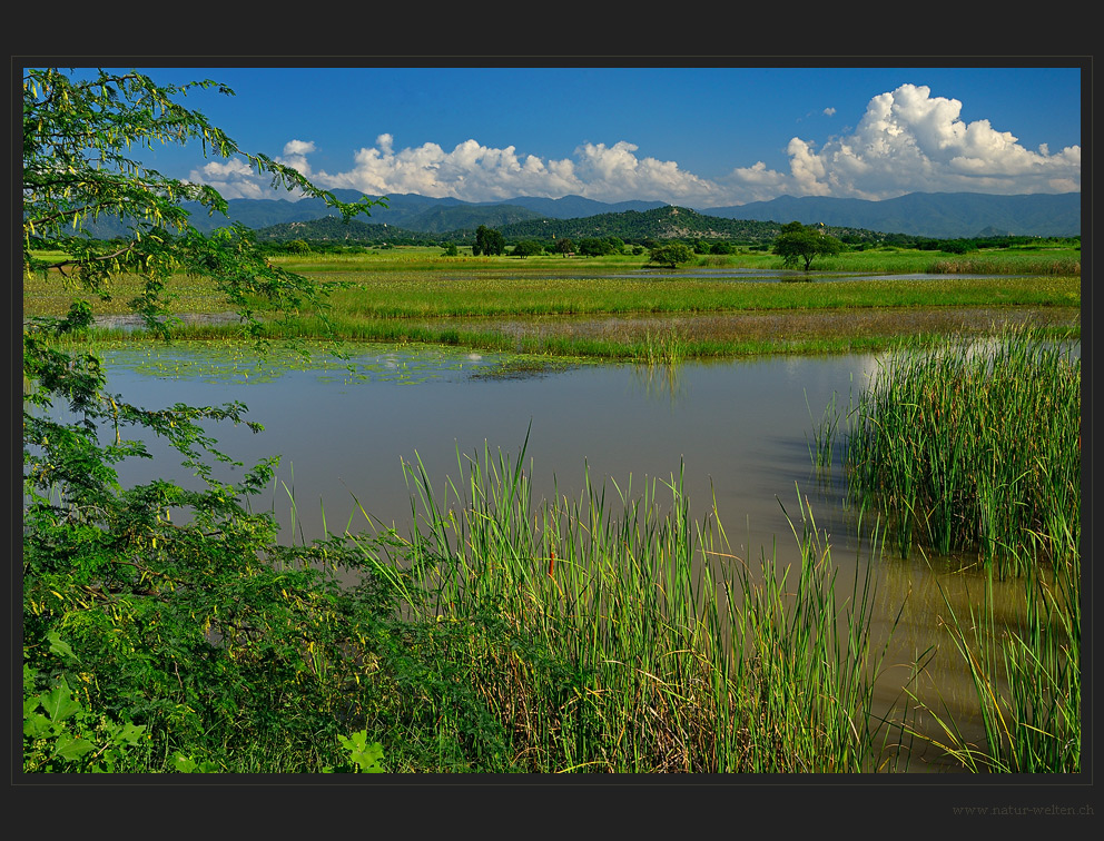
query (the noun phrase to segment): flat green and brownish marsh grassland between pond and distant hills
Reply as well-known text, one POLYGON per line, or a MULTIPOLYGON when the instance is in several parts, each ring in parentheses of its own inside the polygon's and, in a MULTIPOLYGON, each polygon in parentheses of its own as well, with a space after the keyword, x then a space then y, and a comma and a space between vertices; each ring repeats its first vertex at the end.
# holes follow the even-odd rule
MULTIPOLYGON (((345 340, 427 342, 544 356, 648 359, 657 345, 681 358, 761 353, 876 349, 910 338, 993 332, 1029 324, 1080 335, 1080 254, 994 251, 985 265, 930 251, 852 251, 812 283, 748 280, 778 271, 762 253, 700 257, 676 271, 642 257, 442 257, 437 249, 278 258, 328 293, 326 319, 304 310, 273 335, 345 340), (938 273, 952 266, 987 277, 938 273), (1031 271, 1035 274, 1021 274, 1031 271), (879 275, 840 279, 840 273, 879 275), (893 277, 905 274, 905 277, 893 277), (886 276, 883 276, 886 275, 886 276)), ((787 279, 806 280, 801 273, 787 279)), ((120 315, 138 289, 120 278, 97 316, 120 315)), ((178 313, 217 316, 227 306, 203 278, 171 285, 178 313)), ((24 315, 61 315, 71 290, 56 278, 24 279, 24 315)), ((262 303, 258 301, 258 306, 262 303)), ((195 319, 179 338, 236 335, 233 321, 195 319)), ((120 334, 121 335, 121 334, 120 334)), ((118 336, 117 336, 118 337, 118 336)))

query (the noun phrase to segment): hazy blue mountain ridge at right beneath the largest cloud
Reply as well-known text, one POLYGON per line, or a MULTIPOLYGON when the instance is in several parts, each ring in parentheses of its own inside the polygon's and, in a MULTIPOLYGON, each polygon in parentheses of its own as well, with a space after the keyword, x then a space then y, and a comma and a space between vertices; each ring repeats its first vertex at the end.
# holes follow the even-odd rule
POLYGON ((779 196, 732 207, 699 208, 710 216, 805 225, 851 226, 934 239, 1000 236, 1071 237, 1081 234, 1081 194, 990 196, 910 192, 893 199, 779 196))

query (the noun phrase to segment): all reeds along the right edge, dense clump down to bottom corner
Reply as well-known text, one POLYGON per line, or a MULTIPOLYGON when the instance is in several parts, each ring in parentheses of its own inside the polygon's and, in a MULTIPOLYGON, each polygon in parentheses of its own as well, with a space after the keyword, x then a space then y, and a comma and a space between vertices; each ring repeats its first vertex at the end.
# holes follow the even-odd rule
MULTIPOLYGON (((1080 771, 1080 357, 1035 330, 898 349, 842 425, 848 492, 860 511, 886 516, 903 555, 919 544, 985 564, 968 615, 946 594, 940 611, 984 741, 907 685, 935 731, 905 731, 968 771, 1080 771), (998 619, 993 580, 1009 571, 1023 607, 998 619)), ((818 469, 830 466, 839 431, 832 404, 810 444, 818 469)))

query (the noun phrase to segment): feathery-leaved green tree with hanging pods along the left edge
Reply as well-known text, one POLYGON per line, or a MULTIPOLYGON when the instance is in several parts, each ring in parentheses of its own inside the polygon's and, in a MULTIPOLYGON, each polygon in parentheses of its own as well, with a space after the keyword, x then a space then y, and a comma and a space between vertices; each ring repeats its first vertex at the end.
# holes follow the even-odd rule
MULTIPOLYGON (((230 459, 204 424, 259 432, 245 406, 150 410, 109 393, 99 358, 81 342, 92 309, 79 296, 107 299, 120 275, 135 276, 139 291, 129 305, 166 339, 168 290, 179 273, 210 277, 258 340, 266 327, 252 300, 267 301, 266 316, 325 303, 310 280, 265 259, 245 228, 196 230, 181 200, 211 214, 225 214, 226 201, 149 169, 132 149, 195 139, 210 154, 244 158, 274 187, 323 198, 345 218, 378 202, 341 202, 296 170, 241 152, 176 101, 191 87, 230 93, 215 82, 158 86, 102 70, 80 80, 56 69, 24 71, 22 82, 23 267, 75 296, 65 317, 33 319, 22 334, 24 702, 77 686, 103 732, 138 728, 165 756, 170 746, 198 751, 259 733, 280 732, 284 744, 335 733, 333 682, 351 680, 364 653, 351 643, 367 639, 366 623, 388 613, 390 596, 344 538, 279 545, 273 515, 244 504, 266 487, 275 458, 237 484, 216 478, 211 462, 230 459), (87 236, 87 224, 102 216, 126 222, 128 236, 87 236), (65 256, 40 256, 47 243, 65 256), (171 445, 201 489, 160 478, 122 487, 116 465, 150 457, 140 437, 128 437, 131 428, 171 445), (338 571, 347 570, 359 570, 364 584, 341 584, 338 571), (326 670, 317 667, 323 662, 326 670), (274 714, 293 686, 306 715, 274 714)), ((24 703, 24 721, 33 709, 24 703)), ((82 770, 80 758, 95 755, 69 742, 51 748, 50 738, 24 729, 24 768, 49 756, 72 765, 61 770, 82 770)))

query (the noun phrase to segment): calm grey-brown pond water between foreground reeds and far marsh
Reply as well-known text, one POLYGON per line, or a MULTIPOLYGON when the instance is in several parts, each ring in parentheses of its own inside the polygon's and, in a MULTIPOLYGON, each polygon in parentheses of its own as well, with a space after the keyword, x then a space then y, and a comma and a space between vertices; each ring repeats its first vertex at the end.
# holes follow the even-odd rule
MULTIPOLYGON (((852 574, 871 563, 841 483, 818 478, 809 453, 829 404, 835 399, 846 409, 849 396, 876 376, 871 355, 689 363, 674 370, 585 366, 536 375, 503 373, 494 356, 376 345, 353 356, 351 369, 323 357, 307 369, 257 365, 183 345, 154 355, 114 350, 105 358, 109 388, 149 408, 245 403, 265 432, 226 425, 216 427, 217 437, 246 466, 282 455, 270 493, 255 497, 254 507, 272 508, 288 540, 292 494, 296 538, 319 536, 323 516, 331 530, 367 527, 357 502, 405 533, 412 513, 404 459, 420 458, 443 492, 448 477, 460 484, 457 456, 479 457, 490 447, 516 457, 528 435, 524 459, 538 495, 578 498, 585 471, 593 484, 605 484, 607 499, 617 498, 613 483, 637 497, 644 483, 681 475, 698 518, 716 498, 736 554, 755 563, 762 552, 776 553, 788 563, 799 553, 786 512, 799 516, 800 494, 840 566, 840 600, 850 595, 852 574)), ((186 478, 166 469, 179 461, 170 452, 151 449, 164 458, 128 466, 125 482, 186 478)), ((973 687, 937 616, 946 610, 940 587, 957 612, 979 603, 980 578, 950 572, 939 560, 933 572, 919 554, 873 563, 876 631, 886 633, 905 605, 886 660, 896 665, 879 681, 879 702, 888 708, 899 699, 906 664, 935 645, 938 654, 918 691, 938 692, 924 696, 933 703, 942 697, 969 732, 973 687)), ((1014 590, 997 596, 1015 611, 1014 590)), ((914 770, 929 766, 921 753, 914 753, 914 770)))

